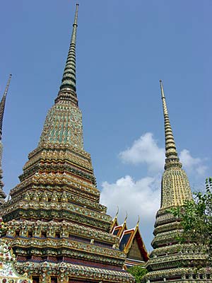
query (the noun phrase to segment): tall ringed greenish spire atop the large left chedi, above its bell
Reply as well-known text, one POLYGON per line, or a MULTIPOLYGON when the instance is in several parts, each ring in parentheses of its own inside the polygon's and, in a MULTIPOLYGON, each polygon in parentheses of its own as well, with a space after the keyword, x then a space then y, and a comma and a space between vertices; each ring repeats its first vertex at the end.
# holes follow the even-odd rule
POLYGON ((76 97, 76 30, 78 19, 78 4, 76 4, 76 13, 73 22, 73 29, 71 35, 71 43, 69 47, 68 57, 66 59, 66 66, 64 74, 61 79, 60 91, 55 102, 59 99, 72 100, 73 103, 78 103, 76 97))

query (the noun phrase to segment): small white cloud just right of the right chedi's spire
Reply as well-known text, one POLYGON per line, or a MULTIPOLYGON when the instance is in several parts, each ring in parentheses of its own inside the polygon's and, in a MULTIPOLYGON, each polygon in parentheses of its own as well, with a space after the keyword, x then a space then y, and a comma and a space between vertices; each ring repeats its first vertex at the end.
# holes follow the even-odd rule
POLYGON ((192 171, 198 175, 204 175, 206 173, 208 167, 204 165, 204 160, 192 157, 187 149, 183 149, 180 152, 179 159, 185 170, 189 173, 192 173, 192 171))

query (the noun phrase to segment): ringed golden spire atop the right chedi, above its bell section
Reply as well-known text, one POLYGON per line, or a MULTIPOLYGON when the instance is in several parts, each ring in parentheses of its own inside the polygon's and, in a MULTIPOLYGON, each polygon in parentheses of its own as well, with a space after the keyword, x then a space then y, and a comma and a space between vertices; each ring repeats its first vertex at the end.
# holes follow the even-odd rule
POLYGON ((170 118, 167 112, 167 105, 165 102, 165 95, 163 91, 163 83, 161 80, 160 80, 160 91, 163 102, 163 116, 164 116, 164 125, 165 125, 165 156, 166 156, 165 169, 174 164, 175 166, 182 167, 182 164, 179 163, 179 158, 177 156, 175 139, 172 133, 172 127, 170 125, 170 118))

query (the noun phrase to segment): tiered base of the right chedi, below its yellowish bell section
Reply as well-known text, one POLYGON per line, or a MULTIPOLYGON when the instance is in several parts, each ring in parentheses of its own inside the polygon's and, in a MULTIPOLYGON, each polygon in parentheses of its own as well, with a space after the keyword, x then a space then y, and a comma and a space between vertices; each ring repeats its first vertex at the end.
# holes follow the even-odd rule
POLYGON ((206 249, 195 243, 179 243, 177 236, 181 232, 180 222, 167 209, 160 209, 155 221, 154 250, 146 265, 149 273, 143 282, 212 282, 211 268, 206 267, 206 249))

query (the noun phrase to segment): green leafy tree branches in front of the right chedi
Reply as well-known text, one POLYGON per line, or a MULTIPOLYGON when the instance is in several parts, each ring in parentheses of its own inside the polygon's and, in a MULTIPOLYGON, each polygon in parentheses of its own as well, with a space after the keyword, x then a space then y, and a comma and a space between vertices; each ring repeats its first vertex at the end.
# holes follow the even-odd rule
POLYGON ((183 231, 179 241, 206 245, 212 260, 212 178, 206 179, 205 192, 195 192, 194 201, 186 201, 171 212, 181 220, 183 231))

